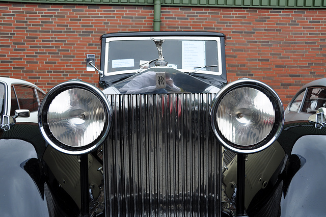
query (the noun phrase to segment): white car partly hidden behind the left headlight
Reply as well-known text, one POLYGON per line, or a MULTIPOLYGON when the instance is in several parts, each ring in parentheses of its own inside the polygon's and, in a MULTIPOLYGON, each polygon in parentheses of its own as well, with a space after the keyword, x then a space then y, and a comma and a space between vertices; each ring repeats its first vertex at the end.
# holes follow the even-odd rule
POLYGON ((29 110, 30 117, 17 117, 16 122, 37 123, 37 111, 45 92, 25 80, 0 77, 0 114, 14 116, 16 110, 29 110))

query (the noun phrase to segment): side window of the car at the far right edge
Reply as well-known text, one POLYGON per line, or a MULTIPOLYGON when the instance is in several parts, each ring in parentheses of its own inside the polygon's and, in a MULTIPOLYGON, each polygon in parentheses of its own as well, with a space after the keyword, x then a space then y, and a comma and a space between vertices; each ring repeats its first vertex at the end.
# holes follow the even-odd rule
POLYGON ((302 112, 315 114, 318 108, 325 107, 326 89, 311 88, 307 92, 302 112))

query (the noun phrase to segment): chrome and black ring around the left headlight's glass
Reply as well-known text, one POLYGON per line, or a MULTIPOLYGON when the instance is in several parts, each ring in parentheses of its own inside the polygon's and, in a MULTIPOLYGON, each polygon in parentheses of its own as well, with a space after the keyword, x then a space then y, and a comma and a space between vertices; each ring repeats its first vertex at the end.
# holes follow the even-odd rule
POLYGON ((68 82, 64 82, 53 87, 43 98, 38 111, 38 124, 44 139, 53 148, 66 154, 80 155, 80 154, 86 154, 92 152, 95 149, 97 149, 106 139, 107 134, 111 128, 111 122, 112 122, 112 108, 106 96, 103 94, 101 90, 99 90, 95 86, 86 82, 82 82, 79 79, 72 79, 69 80, 68 82), (51 102, 59 94, 64 93, 65 91, 71 91, 73 89, 77 91, 80 90, 81 92, 87 92, 87 93, 89 92, 91 93, 90 95, 92 96, 94 95, 94 97, 96 97, 96 99, 98 99, 100 104, 103 106, 103 110, 104 110, 103 113, 104 113, 105 120, 104 120, 103 127, 101 128, 101 132, 92 142, 89 142, 83 146, 72 146, 59 141, 57 137, 53 135, 47 121, 48 110, 51 102))

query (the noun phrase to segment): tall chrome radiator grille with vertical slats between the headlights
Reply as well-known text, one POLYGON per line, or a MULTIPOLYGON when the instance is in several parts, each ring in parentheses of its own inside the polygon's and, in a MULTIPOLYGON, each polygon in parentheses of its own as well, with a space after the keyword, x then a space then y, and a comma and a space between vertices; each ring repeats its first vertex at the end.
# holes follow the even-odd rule
POLYGON ((104 154, 107 216, 216 216, 221 146, 214 94, 107 95, 113 126, 104 154))

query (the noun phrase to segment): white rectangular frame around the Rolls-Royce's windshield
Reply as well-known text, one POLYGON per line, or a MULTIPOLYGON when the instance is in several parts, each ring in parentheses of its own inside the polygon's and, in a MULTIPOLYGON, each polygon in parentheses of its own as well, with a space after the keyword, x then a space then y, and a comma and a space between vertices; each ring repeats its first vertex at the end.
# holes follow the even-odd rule
MULTIPOLYGON (((112 41, 135 41, 135 40, 147 40, 151 41, 150 38, 160 38, 164 40, 182 40, 182 41, 216 41, 217 52, 218 52, 218 72, 213 71, 206 71, 206 70, 198 70, 198 69, 179 69, 180 71, 187 72, 187 73, 199 73, 199 74, 209 74, 209 75, 222 75, 223 73, 223 63, 222 63, 222 50, 221 50, 221 39, 220 37, 209 37, 209 36, 135 36, 135 37, 108 37, 105 38, 105 57, 104 57, 104 75, 105 76, 111 76, 111 75, 118 75, 118 74, 127 74, 127 73, 137 73, 141 67, 134 70, 121 70, 121 71, 114 71, 114 72, 108 72, 108 49, 109 49, 109 43, 112 41), (197 71, 196 71, 197 70, 197 71)), ((153 46, 155 46, 153 42, 153 46)), ((164 55, 164 44, 162 45, 163 48, 163 55, 164 55)), ((153 57, 156 58, 157 56, 153 57)), ((150 61, 150 60, 148 60, 150 61)))

